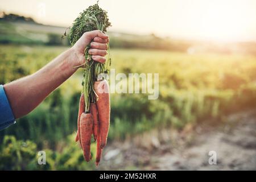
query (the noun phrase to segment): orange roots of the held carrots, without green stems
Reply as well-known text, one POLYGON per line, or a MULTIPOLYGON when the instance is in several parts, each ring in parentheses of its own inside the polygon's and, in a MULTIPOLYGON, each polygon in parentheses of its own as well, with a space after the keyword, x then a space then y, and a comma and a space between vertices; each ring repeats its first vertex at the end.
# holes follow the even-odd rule
POLYGON ((85 113, 84 93, 81 94, 79 102, 79 114, 77 118, 77 135, 75 141, 79 141, 84 151, 84 159, 89 162, 90 141, 97 141, 96 166, 101 160, 102 149, 106 146, 109 133, 110 119, 110 97, 108 81, 94 82, 94 90, 98 96, 96 103, 90 103, 90 112, 85 113))

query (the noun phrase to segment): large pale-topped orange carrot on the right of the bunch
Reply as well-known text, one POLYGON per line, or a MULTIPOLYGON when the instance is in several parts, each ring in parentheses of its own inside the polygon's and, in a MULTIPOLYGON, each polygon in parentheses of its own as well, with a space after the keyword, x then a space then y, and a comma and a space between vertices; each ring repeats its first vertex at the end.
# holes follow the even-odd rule
POLYGON ((98 109, 98 121, 100 123, 100 143, 101 148, 104 148, 108 138, 110 122, 110 96, 108 81, 102 80, 94 82, 94 90, 98 95, 96 105, 98 109))

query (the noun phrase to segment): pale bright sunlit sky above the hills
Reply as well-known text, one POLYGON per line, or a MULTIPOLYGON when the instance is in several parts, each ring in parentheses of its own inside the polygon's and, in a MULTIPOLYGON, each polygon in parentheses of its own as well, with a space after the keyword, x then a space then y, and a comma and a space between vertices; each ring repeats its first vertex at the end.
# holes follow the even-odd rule
MULTIPOLYGON (((0 10, 31 16, 39 23, 68 27, 82 10, 96 2, 0 0, 0 10)), ((256 0, 100 0, 99 4, 108 11, 112 31, 256 41, 256 0)))

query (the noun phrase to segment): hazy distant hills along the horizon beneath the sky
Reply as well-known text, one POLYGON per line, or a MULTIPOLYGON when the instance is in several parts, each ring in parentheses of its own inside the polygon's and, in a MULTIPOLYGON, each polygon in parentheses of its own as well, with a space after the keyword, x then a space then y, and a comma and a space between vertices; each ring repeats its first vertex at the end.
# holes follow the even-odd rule
MULTIPOLYGON (((40 24, 30 17, 0 13, 0 44, 38 44, 49 46, 69 46, 68 36, 61 40, 67 27, 40 24)), ((255 42, 203 42, 160 38, 154 34, 136 35, 123 32, 108 32, 110 47, 159 49, 166 51, 213 53, 250 53, 256 55, 255 42)))

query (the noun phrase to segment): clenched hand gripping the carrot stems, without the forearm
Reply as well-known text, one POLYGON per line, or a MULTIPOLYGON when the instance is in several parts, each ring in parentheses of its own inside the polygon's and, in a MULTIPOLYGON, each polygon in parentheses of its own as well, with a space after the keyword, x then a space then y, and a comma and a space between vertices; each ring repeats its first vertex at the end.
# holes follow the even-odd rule
POLYGON ((92 59, 100 63, 105 63, 106 59, 104 56, 108 53, 106 50, 108 49, 109 36, 102 33, 100 30, 94 30, 85 32, 72 47, 77 57, 77 59, 74 60, 75 63, 73 63, 74 67, 85 63, 84 49, 89 43, 89 53, 92 55, 92 59))

